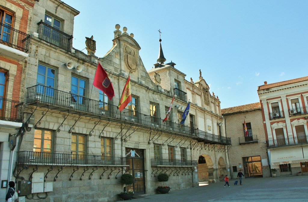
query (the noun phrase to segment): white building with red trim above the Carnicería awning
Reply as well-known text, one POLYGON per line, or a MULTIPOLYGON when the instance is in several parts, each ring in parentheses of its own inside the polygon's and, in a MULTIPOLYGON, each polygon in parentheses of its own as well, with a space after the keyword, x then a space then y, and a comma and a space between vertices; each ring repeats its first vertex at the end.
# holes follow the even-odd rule
POLYGON ((308 77, 258 87, 268 158, 277 176, 308 173, 308 77))

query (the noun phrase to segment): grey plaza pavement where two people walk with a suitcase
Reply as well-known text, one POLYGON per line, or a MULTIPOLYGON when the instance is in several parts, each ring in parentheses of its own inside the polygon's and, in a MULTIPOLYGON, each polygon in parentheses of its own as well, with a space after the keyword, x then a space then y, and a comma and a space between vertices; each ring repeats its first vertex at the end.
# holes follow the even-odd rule
MULTIPOLYGON (((168 194, 155 194, 141 199, 132 199, 136 202, 207 202, 207 201, 236 201, 236 202, 301 202, 308 201, 308 175, 243 178, 243 185, 224 187, 225 182, 209 183, 205 186, 172 191, 168 194)), ((169 185, 172 188, 172 185, 169 185)))

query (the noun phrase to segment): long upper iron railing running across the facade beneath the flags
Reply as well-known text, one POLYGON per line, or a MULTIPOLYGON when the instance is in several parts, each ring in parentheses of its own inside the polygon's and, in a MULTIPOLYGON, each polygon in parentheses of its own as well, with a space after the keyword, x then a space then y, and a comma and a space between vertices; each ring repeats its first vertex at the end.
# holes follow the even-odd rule
POLYGON ((111 122, 127 123, 155 130, 163 130, 170 134, 181 134, 185 137, 201 139, 207 143, 231 144, 231 138, 210 134, 202 130, 183 126, 173 122, 162 122, 163 119, 150 115, 137 113, 129 109, 118 110, 118 106, 111 105, 102 101, 91 100, 87 97, 78 96, 72 93, 35 85, 27 88, 27 104, 37 104, 41 107, 58 111, 68 111, 80 114, 85 117, 111 120, 111 122))

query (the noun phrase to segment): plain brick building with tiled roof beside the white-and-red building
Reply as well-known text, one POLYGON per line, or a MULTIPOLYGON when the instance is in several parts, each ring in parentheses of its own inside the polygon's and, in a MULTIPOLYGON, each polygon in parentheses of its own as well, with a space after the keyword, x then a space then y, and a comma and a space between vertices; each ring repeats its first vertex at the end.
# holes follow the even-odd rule
POLYGON ((228 150, 230 176, 237 178, 242 170, 245 178, 269 177, 260 102, 221 109, 232 146, 228 150), (248 130, 245 136, 244 121, 248 130))

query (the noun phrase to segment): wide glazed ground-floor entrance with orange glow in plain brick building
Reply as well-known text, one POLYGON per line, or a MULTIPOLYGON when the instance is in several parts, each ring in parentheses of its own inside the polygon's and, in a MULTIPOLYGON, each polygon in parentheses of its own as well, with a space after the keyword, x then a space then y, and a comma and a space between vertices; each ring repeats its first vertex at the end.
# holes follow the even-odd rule
POLYGON ((244 157, 243 163, 244 163, 245 178, 263 177, 260 156, 244 157))

